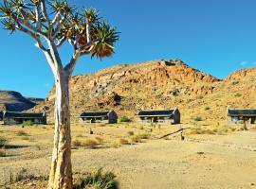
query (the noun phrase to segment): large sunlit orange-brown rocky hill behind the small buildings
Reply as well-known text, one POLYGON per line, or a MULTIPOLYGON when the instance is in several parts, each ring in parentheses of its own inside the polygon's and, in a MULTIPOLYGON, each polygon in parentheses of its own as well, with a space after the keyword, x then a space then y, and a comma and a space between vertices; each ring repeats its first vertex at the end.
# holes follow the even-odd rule
MULTIPOLYGON (((245 69, 224 80, 193 69, 181 60, 153 60, 122 64, 95 74, 70 79, 73 120, 82 111, 115 110, 119 116, 135 116, 138 110, 178 107, 183 123, 200 116, 205 121, 226 120, 227 108, 256 107, 256 69, 245 69)), ((52 117, 54 88, 46 106, 52 117)))

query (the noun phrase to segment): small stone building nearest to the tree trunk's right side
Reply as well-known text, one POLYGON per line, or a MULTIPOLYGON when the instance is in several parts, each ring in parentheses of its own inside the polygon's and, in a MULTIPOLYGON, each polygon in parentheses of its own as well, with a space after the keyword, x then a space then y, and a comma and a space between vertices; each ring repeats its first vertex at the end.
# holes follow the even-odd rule
POLYGON ((82 112, 80 115, 82 123, 118 123, 118 114, 114 111, 105 112, 82 112))

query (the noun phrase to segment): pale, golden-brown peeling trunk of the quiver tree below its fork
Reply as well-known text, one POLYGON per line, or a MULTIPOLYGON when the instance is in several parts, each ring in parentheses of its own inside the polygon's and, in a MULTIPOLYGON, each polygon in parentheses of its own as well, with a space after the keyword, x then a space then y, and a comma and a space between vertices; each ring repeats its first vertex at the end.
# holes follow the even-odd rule
POLYGON ((64 70, 55 73, 55 133, 49 189, 72 188, 71 132, 68 76, 64 70))

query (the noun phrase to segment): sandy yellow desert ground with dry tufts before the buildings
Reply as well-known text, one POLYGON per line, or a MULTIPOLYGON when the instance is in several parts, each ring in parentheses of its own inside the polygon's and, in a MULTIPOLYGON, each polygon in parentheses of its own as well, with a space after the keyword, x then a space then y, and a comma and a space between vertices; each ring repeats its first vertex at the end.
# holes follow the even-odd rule
MULTIPOLYGON (((159 139, 190 127, 194 126, 72 124, 73 172, 103 167, 117 175, 121 189, 256 188, 256 130, 197 126, 184 131, 183 141, 179 133, 159 139)), ((52 125, 0 126, 0 136, 9 140, 6 156, 0 157, 0 186, 46 187, 46 180, 9 182, 22 171, 47 176, 53 131, 52 125)))

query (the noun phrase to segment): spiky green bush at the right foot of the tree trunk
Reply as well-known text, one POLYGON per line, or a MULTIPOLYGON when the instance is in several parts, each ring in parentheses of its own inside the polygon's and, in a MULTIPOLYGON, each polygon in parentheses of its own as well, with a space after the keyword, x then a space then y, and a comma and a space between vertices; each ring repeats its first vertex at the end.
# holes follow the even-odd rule
POLYGON ((102 168, 99 168, 92 173, 83 175, 73 189, 117 189, 116 177, 114 173, 103 172, 102 168))

